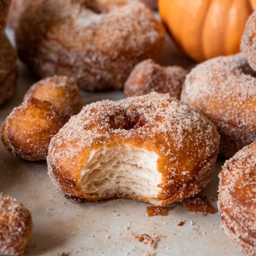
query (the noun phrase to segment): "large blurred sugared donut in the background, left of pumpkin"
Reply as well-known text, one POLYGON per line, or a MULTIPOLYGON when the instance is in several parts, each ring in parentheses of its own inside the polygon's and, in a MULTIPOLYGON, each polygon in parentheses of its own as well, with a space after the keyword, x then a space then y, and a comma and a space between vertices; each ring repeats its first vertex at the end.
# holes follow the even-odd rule
POLYGON ((40 77, 120 89, 140 61, 158 60, 163 25, 140 0, 33 0, 16 27, 20 59, 40 77))

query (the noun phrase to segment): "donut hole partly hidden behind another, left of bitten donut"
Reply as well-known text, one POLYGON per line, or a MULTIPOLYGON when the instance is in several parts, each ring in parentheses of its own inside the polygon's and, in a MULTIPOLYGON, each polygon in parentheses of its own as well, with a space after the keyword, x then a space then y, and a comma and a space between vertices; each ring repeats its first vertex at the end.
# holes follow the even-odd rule
POLYGON ((30 98, 51 102, 64 121, 78 114, 83 106, 77 84, 67 76, 55 75, 36 82, 25 94, 24 101, 30 98))

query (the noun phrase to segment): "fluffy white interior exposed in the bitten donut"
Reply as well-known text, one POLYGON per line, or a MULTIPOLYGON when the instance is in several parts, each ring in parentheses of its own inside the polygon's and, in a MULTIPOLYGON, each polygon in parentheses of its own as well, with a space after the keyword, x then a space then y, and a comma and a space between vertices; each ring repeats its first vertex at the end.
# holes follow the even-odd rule
POLYGON ((93 150, 81 171, 81 187, 95 198, 134 195, 155 203, 162 178, 157 159, 155 152, 127 144, 93 150))

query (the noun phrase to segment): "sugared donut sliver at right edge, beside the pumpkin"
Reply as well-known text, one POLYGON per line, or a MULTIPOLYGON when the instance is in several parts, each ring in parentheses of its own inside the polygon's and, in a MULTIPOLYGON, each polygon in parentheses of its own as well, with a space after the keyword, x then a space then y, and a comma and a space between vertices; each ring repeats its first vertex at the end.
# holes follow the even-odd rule
POLYGON ((256 70, 256 11, 254 11, 246 22, 241 40, 241 52, 245 54, 249 65, 256 70))

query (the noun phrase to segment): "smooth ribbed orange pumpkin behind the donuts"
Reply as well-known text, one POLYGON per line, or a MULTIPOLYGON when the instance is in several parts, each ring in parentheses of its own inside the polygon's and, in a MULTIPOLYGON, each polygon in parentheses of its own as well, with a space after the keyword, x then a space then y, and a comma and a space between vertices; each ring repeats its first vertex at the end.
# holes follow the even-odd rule
POLYGON ((256 0, 159 0, 163 22, 195 61, 239 52, 256 0))

